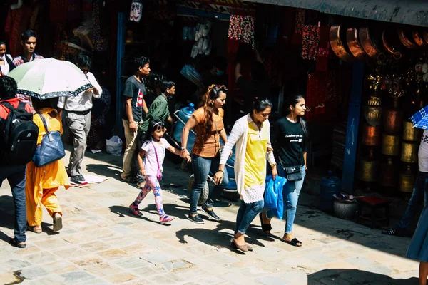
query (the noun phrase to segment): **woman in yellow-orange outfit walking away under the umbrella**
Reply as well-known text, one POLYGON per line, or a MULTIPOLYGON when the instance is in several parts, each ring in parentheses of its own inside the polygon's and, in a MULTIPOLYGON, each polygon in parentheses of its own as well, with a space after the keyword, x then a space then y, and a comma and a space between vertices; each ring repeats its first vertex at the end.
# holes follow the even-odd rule
MULTIPOLYGON (((61 118, 56 110, 51 108, 51 100, 33 99, 33 105, 36 109, 33 121, 39 127, 37 144, 41 143, 46 134, 43 121, 38 113, 44 116, 48 130, 58 130, 61 134, 63 133, 61 118)), ((59 186, 64 186, 66 189, 70 187, 62 159, 44 167, 36 167, 34 162, 29 162, 26 167, 26 210, 27 223, 31 232, 41 233, 42 204, 53 219, 53 231, 58 232, 62 229, 62 211, 58 204, 58 197, 55 195, 59 186)))

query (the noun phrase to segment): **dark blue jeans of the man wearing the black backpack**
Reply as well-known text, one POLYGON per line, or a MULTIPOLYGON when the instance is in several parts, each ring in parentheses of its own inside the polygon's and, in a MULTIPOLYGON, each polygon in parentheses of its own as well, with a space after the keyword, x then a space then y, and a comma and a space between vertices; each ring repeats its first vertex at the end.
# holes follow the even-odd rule
POLYGON ((0 186, 5 179, 11 185, 15 205, 14 235, 18 242, 26 241, 25 172, 26 165, 0 167, 0 186))

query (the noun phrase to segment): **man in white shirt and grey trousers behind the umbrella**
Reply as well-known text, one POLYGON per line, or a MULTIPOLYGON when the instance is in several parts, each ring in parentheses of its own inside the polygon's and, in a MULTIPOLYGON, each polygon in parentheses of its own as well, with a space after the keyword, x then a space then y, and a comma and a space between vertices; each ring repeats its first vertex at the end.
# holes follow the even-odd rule
POLYGON ((90 88, 77 96, 61 97, 58 100, 58 110, 61 117, 62 110, 66 110, 66 120, 73 134, 73 151, 68 163, 68 175, 74 184, 85 182, 81 174, 81 163, 86 150, 86 138, 91 128, 92 98, 101 98, 102 89, 89 69, 91 59, 86 55, 79 55, 77 64, 85 73, 88 81, 92 84, 90 88))

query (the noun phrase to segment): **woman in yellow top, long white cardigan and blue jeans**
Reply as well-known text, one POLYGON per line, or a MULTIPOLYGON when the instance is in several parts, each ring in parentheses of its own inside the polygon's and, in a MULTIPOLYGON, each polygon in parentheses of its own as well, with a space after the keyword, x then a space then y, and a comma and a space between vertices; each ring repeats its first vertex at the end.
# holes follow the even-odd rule
POLYGON ((272 167, 273 179, 277 175, 275 157, 270 147, 270 124, 267 120, 271 109, 272 103, 269 100, 255 99, 253 111, 233 125, 220 158, 220 166, 214 175, 215 184, 224 182, 228 153, 236 144, 234 170, 241 202, 236 215, 235 236, 231 242, 232 247, 241 252, 253 250, 250 244, 245 243, 245 232, 263 209, 266 157, 272 167))

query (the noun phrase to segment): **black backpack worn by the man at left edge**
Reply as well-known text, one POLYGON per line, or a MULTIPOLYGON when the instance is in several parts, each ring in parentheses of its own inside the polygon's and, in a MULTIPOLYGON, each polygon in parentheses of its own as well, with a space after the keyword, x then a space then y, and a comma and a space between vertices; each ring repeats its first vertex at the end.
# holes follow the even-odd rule
POLYGON ((33 114, 25 110, 25 103, 18 108, 11 103, 0 102, 10 110, 0 138, 0 164, 26 165, 33 159, 36 150, 39 127, 33 122, 33 114))

